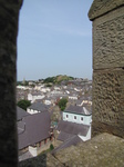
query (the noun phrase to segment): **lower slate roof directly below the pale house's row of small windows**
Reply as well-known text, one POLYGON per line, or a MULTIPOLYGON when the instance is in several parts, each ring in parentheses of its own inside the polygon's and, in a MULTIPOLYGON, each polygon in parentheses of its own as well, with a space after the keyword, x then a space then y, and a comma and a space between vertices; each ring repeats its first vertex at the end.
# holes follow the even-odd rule
POLYGON ((89 128, 90 126, 87 125, 60 120, 56 130, 64 131, 71 135, 86 136, 89 128))

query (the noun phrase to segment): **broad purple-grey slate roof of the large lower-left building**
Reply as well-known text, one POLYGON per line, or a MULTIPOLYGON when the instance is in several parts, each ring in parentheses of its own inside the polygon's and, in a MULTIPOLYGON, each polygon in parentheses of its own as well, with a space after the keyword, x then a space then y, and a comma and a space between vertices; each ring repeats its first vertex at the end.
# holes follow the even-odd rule
MULTIPOLYGON (((21 124, 24 124, 24 131, 19 131, 20 134, 18 134, 19 149, 34 145, 50 137, 51 121, 48 111, 27 116, 21 124)), ((18 129, 19 128, 22 128, 22 126, 18 124, 18 129)))

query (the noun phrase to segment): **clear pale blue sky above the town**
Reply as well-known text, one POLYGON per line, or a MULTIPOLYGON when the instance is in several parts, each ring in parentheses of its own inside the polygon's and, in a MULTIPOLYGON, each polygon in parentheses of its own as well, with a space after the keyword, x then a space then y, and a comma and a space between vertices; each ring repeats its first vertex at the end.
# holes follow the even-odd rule
POLYGON ((58 75, 92 79, 93 0, 24 0, 19 16, 18 80, 58 75))

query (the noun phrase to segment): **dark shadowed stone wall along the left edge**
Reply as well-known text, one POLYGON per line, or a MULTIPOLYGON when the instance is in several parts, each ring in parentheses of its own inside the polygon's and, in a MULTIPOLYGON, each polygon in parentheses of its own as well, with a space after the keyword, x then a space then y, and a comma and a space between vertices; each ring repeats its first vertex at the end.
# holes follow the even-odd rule
POLYGON ((0 0, 0 166, 18 166, 16 75, 21 0, 0 0))

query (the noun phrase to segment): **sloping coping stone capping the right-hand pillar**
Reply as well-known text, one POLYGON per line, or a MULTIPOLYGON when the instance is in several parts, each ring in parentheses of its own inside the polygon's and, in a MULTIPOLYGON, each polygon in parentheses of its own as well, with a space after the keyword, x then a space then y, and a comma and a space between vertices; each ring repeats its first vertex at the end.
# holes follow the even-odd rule
POLYGON ((124 0, 94 0, 89 11, 89 18, 94 20, 121 6, 124 6, 124 0))

